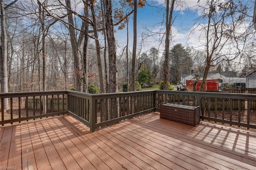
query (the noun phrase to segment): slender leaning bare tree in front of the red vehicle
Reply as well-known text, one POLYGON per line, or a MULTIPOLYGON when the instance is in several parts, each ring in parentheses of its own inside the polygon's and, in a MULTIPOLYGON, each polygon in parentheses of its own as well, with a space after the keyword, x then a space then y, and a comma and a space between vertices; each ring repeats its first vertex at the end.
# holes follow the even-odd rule
POLYGON ((241 23, 246 25, 248 4, 243 2, 234 3, 221 0, 207 0, 206 6, 201 6, 203 12, 198 18, 205 21, 204 25, 199 24, 205 32, 206 60, 204 75, 200 91, 206 86, 206 79, 211 67, 215 67, 222 61, 236 59, 244 50, 248 37, 247 30, 238 33, 241 23))

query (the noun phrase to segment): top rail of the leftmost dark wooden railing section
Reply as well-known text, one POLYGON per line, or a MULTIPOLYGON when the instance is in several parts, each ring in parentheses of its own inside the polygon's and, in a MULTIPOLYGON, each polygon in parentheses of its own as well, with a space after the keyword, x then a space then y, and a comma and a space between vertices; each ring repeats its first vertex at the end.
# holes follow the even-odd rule
POLYGON ((10 97, 32 97, 41 95, 65 95, 67 91, 33 91, 33 92, 14 92, 14 93, 0 93, 0 99, 10 97))

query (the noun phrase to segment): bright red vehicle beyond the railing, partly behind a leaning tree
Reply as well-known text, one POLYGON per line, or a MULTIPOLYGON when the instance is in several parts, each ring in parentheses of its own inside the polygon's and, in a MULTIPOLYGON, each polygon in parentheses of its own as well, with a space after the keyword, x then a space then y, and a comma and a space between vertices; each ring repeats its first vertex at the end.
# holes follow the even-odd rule
MULTIPOLYGON (((199 91, 202 80, 186 80, 186 88, 188 91, 199 91)), ((206 89, 203 91, 219 90, 219 79, 207 79, 206 89)))

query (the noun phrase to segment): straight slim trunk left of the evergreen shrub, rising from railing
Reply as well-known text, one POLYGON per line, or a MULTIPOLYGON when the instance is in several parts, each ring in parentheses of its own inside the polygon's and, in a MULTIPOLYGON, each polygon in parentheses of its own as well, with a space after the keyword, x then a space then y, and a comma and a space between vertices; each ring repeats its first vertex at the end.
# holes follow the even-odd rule
POLYGON ((136 91, 136 85, 135 85, 136 84, 135 83, 136 49, 137 49, 137 0, 134 0, 131 91, 136 91))

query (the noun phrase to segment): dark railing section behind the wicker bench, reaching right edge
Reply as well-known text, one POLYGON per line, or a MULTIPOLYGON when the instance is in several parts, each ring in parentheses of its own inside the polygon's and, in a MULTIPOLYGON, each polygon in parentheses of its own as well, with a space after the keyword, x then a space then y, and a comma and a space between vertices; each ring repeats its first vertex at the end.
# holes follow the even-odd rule
POLYGON ((256 129, 256 94, 156 90, 160 103, 201 106, 201 119, 256 129))

